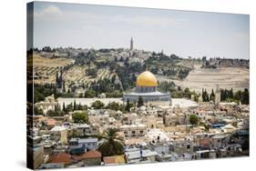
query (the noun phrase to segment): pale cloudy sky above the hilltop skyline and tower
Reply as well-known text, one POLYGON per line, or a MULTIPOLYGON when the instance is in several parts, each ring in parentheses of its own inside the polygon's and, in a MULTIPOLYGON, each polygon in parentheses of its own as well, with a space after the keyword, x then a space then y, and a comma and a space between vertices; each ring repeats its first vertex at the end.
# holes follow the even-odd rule
POLYGON ((34 46, 128 47, 249 58, 249 15, 36 2, 34 46))

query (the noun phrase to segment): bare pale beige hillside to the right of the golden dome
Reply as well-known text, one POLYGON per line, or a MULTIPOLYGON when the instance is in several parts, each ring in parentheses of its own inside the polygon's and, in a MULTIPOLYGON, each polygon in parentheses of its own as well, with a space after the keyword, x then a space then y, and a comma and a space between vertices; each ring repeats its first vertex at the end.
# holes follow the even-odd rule
MULTIPOLYGON (((161 81, 170 80, 166 77, 159 77, 161 81)), ((233 90, 243 90, 249 88, 250 75, 249 69, 245 67, 220 67, 220 68, 200 68, 195 65, 195 69, 189 72, 184 80, 170 80, 181 87, 189 87, 191 90, 201 92, 206 88, 209 92, 215 89, 216 85, 220 88, 233 88, 233 90)))

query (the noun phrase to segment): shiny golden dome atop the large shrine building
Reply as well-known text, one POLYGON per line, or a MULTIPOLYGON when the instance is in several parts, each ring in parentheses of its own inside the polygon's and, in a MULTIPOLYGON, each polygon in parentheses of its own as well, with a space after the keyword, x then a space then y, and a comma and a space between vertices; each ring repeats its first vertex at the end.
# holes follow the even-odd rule
POLYGON ((137 77, 137 86, 157 86, 158 80, 155 75, 149 71, 145 71, 138 75, 137 77))

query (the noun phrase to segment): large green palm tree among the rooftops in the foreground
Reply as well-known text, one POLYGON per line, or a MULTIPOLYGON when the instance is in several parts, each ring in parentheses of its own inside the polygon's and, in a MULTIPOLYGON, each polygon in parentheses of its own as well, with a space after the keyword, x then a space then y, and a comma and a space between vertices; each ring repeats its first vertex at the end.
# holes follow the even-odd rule
POLYGON ((115 156, 124 154, 123 139, 118 137, 118 129, 108 128, 99 138, 104 139, 98 150, 102 156, 115 156))

